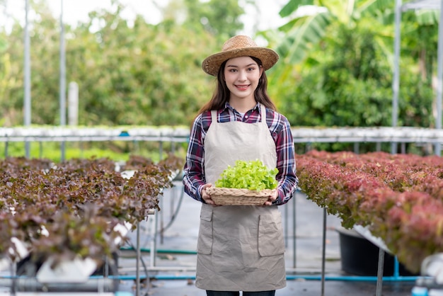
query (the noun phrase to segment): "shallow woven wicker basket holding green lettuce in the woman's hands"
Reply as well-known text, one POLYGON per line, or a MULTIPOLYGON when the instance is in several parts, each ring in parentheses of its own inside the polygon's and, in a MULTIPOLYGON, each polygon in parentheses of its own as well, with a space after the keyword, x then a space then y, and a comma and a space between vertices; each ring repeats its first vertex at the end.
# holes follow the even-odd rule
POLYGON ((267 198, 275 193, 275 189, 264 189, 260 191, 208 187, 207 194, 211 195, 216 205, 263 205, 267 198))

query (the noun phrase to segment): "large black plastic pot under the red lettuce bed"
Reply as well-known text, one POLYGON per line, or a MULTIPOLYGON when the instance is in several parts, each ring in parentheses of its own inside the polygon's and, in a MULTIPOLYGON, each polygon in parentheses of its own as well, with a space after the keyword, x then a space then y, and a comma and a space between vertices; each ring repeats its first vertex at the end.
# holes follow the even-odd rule
MULTIPOLYGON (((364 276, 376 276, 379 266, 379 247, 362 237, 354 229, 337 229, 340 238, 340 256, 342 270, 345 273, 364 276)), ((395 259, 384 254, 384 276, 393 276, 395 259)), ((398 264, 398 275, 417 275, 408 271, 403 264, 398 264)))

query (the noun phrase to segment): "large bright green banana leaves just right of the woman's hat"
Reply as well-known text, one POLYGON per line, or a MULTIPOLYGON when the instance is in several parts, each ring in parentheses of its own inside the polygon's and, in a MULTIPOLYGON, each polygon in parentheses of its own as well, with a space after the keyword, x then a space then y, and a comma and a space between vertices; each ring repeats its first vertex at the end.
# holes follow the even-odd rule
MULTIPOLYGON (((304 62, 309 50, 325 38, 328 27, 335 22, 352 28, 364 16, 372 16, 380 23, 393 23, 393 1, 389 0, 289 0, 280 11, 288 22, 278 32, 261 33, 270 45, 277 49, 280 63, 271 72, 277 81, 277 89, 288 87, 287 79, 294 76, 297 66, 304 62)), ((380 32, 379 42, 392 55, 392 39, 386 43, 386 34, 393 38, 391 30, 380 32)))

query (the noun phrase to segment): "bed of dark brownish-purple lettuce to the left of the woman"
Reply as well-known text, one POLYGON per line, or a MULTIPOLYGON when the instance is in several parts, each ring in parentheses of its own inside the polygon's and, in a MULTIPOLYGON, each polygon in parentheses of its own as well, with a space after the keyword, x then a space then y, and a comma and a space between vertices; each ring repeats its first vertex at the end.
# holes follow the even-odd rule
POLYGON ((182 167, 173 155, 157 164, 134 156, 123 169, 135 172, 124 178, 110 159, 0 160, 0 254, 34 273, 48 260, 57 268, 86 259, 101 273, 127 231, 160 210, 163 188, 182 167))

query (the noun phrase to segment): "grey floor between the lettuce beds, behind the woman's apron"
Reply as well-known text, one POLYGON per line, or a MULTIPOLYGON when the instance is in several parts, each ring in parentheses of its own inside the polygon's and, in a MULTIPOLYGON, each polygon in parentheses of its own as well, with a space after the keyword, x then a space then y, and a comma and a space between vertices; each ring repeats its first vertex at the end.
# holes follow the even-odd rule
MULTIPOLYGON (((195 249, 198 232, 200 203, 184 195, 180 202, 180 183, 166 190, 161 198, 161 211, 149 216, 139 226, 139 244, 142 251, 156 249, 154 253, 142 253, 140 283, 122 280, 120 290, 134 295, 203 296, 205 291, 194 285, 195 249), (176 209, 178 211, 176 212, 176 209), (171 219, 171 217, 175 217, 171 219), (154 227, 164 231, 154 236, 154 227), (146 267, 146 268, 145 268, 146 267), (148 275, 149 280, 146 280, 148 275)), ((297 193, 287 205, 280 207, 284 217, 287 241, 287 287, 277 290, 277 296, 289 295, 376 295, 376 280, 342 271, 340 241, 336 228, 337 217, 326 215, 325 279, 321 280, 323 254, 323 209, 297 193), (295 225, 295 229, 294 229, 295 225), (294 239, 295 237, 295 239, 294 239), (295 254, 295 256, 294 256, 295 254)), ((133 246, 137 232, 130 234, 133 246)), ((134 253, 122 253, 120 275, 134 275, 134 253)), ((381 295, 411 295, 415 281, 408 278, 384 280, 381 295)))

